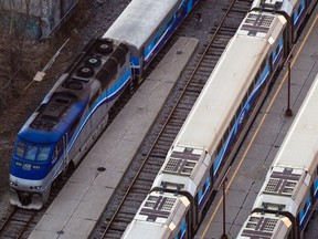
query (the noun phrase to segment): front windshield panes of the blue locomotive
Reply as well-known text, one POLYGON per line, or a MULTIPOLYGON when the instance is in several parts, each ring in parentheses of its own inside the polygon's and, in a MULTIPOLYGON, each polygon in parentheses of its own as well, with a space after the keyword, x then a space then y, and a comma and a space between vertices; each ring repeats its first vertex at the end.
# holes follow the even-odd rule
POLYGON ((25 144, 22 141, 18 142, 15 148, 15 156, 26 160, 44 162, 49 159, 50 153, 50 146, 25 144))

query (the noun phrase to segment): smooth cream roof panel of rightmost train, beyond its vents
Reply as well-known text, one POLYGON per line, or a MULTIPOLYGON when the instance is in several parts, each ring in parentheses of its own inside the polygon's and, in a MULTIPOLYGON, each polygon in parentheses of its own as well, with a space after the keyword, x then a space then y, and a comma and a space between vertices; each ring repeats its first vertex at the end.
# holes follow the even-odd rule
POLYGON ((285 137, 273 166, 305 169, 312 174, 318 163, 318 75, 285 137))

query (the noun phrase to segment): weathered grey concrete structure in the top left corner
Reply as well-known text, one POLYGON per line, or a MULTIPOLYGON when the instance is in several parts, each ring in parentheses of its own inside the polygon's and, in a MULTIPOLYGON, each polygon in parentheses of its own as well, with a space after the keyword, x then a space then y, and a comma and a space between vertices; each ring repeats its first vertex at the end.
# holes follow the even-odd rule
POLYGON ((61 23, 71 15, 81 0, 3 0, 2 24, 11 22, 11 12, 17 12, 15 27, 25 31, 31 39, 47 38, 61 23), (29 3, 28 3, 29 2, 29 3), (7 13, 6 13, 7 12, 7 13))

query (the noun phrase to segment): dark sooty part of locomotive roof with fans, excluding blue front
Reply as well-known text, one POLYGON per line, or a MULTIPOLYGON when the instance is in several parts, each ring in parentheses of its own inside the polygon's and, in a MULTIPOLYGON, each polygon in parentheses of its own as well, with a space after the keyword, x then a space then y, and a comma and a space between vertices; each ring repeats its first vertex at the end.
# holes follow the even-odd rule
POLYGON ((91 41, 36 110, 31 128, 51 131, 62 118, 65 123, 72 123, 80 112, 83 113, 85 101, 92 97, 96 87, 103 91, 109 84, 118 65, 126 62, 126 55, 128 46, 124 43, 107 39, 91 41), (65 114, 77 103, 80 105, 73 112, 76 115, 65 118, 65 114))

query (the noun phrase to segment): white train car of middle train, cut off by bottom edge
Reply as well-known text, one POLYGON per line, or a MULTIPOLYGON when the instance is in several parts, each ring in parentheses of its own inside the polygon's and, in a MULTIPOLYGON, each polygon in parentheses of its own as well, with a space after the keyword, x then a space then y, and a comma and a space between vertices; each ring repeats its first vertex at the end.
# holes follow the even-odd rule
POLYGON ((147 196, 121 238, 190 238, 190 201, 184 196, 153 191, 147 196), (142 233, 140 233, 142 231, 142 233))

